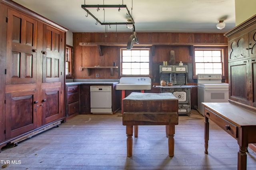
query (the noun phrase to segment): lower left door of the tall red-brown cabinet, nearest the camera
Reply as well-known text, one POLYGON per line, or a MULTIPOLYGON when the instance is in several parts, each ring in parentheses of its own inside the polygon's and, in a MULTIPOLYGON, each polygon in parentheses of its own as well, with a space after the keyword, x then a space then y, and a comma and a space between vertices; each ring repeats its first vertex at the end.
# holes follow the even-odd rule
POLYGON ((37 91, 6 93, 6 139, 36 128, 37 91))

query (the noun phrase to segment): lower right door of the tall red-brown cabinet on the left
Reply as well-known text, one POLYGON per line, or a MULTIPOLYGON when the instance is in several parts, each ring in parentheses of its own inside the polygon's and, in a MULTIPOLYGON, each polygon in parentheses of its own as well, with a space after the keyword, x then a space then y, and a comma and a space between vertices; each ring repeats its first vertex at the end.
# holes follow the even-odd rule
POLYGON ((42 89, 42 124, 63 117, 63 102, 60 87, 42 89))

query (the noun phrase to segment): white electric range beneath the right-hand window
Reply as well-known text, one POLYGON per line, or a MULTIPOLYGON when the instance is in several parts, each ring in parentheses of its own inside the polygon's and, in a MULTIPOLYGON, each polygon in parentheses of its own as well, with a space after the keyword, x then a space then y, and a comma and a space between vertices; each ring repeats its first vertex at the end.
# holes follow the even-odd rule
POLYGON ((221 74, 198 74, 198 111, 204 115, 202 102, 228 102, 228 84, 221 82, 221 74))

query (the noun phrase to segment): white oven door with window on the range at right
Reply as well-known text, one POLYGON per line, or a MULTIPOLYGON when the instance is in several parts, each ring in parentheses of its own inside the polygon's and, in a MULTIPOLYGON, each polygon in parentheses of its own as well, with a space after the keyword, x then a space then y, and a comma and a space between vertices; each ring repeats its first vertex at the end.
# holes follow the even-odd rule
POLYGON ((228 88, 205 88, 204 102, 228 102, 228 88))

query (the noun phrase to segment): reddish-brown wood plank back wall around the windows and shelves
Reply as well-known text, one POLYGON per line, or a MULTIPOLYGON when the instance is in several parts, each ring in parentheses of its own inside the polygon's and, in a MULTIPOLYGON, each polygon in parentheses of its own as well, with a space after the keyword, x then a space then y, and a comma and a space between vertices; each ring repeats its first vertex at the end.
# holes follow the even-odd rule
MULTIPOLYGON (((120 48, 126 48, 125 44, 131 33, 107 33, 107 37, 105 35, 105 33, 73 33, 74 78, 96 78, 96 73, 99 74, 98 78, 120 78, 120 48), (79 43, 94 43, 94 45, 81 46, 79 43), (101 45, 102 56, 95 45, 97 43, 101 45), (91 69, 90 76, 85 69, 78 70, 79 66, 112 66, 113 62, 119 67, 119 69, 114 69, 113 76, 110 75, 110 70, 107 68, 91 69)), ((154 63, 169 61, 171 50, 175 51, 176 63, 182 61, 182 63, 192 64, 192 45, 227 45, 228 43, 223 33, 137 33, 137 35, 142 45, 134 45, 134 48, 151 48, 151 45, 154 45, 152 66, 157 65, 154 63)), ((227 51, 224 55, 227 60, 227 51)), ((228 67, 226 66, 226 68, 228 67)), ((156 68, 152 68, 152 70, 156 70, 156 68)), ((190 68, 188 71, 192 72, 192 69, 190 68)), ((159 74, 159 72, 153 72, 153 76, 154 74, 159 74)), ((188 80, 192 80, 192 78, 188 78, 188 80)), ((191 83, 193 84, 193 81, 191 83)))

